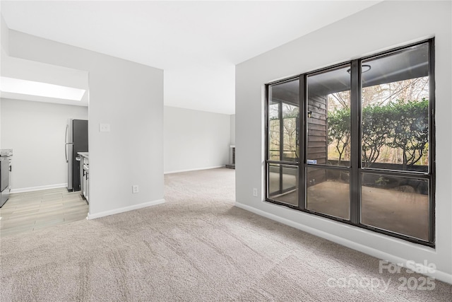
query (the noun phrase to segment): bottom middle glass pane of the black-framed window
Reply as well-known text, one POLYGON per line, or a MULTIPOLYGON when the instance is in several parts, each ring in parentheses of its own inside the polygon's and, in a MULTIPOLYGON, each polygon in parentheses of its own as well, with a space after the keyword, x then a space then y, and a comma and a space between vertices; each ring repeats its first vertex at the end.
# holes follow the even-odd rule
POLYGON ((307 209, 349 219, 349 177, 347 171, 308 168, 307 209))

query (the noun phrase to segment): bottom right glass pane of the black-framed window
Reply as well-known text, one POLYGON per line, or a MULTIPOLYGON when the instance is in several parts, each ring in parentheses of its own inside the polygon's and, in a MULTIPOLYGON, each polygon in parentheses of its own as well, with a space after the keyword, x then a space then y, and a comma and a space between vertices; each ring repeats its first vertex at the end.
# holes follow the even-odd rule
POLYGON ((429 240, 429 183, 388 175, 362 175, 361 222, 429 240))

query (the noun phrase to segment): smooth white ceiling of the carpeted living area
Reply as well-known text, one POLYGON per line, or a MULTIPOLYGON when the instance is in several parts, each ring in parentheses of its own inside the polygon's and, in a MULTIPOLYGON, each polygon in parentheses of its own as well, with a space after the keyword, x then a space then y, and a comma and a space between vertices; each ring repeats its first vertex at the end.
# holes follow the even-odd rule
POLYGON ((1 1, 8 28, 164 69, 165 105, 234 114, 235 64, 381 1, 1 1))

